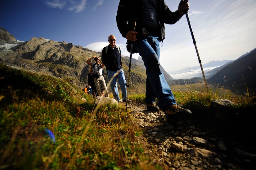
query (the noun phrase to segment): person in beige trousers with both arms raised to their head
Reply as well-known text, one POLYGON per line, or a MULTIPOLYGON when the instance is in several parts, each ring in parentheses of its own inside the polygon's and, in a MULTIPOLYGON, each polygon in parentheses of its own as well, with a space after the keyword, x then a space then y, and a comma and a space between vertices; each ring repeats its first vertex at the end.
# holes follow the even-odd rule
POLYGON ((92 66, 92 68, 93 68, 94 83, 96 86, 98 96, 102 95, 102 96, 108 97, 108 89, 107 89, 106 82, 105 82, 103 72, 102 72, 102 68, 104 68, 105 65, 96 56, 88 59, 86 61, 86 63, 89 64, 90 66, 92 66), (94 63, 91 63, 92 59, 94 59, 94 63), (101 89, 101 87, 102 87, 102 89, 101 89), (105 89, 106 89, 106 93, 104 94, 105 89))

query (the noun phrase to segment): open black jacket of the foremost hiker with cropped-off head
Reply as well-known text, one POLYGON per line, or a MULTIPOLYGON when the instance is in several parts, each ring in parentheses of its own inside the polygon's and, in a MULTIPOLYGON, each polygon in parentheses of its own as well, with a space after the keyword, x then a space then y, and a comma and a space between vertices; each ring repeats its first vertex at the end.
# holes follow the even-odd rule
MULTIPOLYGON (((164 23, 175 24, 182 16, 178 11, 170 11, 164 0, 158 0, 158 3, 159 8, 157 12, 159 14, 159 29, 157 30, 157 33, 159 35, 159 41, 163 41, 165 39, 164 23)), ((126 37, 128 31, 132 30, 133 20, 137 18, 135 31, 138 34, 136 37, 137 40, 142 39, 141 29, 144 26, 141 25, 141 8, 141 0, 120 0, 116 15, 116 23, 123 37, 126 37)))

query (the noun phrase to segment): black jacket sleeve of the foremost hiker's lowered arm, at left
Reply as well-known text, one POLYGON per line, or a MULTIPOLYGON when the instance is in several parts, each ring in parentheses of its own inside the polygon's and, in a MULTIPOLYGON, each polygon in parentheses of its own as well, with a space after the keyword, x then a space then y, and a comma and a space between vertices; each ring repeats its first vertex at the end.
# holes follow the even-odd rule
POLYGON ((129 10, 129 1, 127 0, 120 0, 117 15, 116 15, 116 24, 119 32, 122 34, 123 37, 126 37, 126 34, 132 28, 131 25, 131 17, 130 17, 130 10, 129 10))

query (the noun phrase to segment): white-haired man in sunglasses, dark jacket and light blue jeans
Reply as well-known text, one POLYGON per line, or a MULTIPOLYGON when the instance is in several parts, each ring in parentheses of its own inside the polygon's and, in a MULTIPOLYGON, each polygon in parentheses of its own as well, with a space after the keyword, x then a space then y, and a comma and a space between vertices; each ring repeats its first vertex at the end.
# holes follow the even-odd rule
MULTIPOLYGON (((121 88, 123 102, 126 102, 127 97, 127 89, 126 89, 126 80, 124 76, 124 70, 122 68, 121 61, 121 50, 118 46, 115 45, 116 39, 114 35, 110 35, 108 37, 109 45, 104 47, 101 53, 101 59, 104 65, 106 66, 107 76, 109 80, 115 75, 115 73, 119 72, 111 81, 110 87, 113 92, 114 98, 121 102, 119 97, 117 80, 121 88)), ((127 102, 131 102, 132 100, 127 99, 127 102)))

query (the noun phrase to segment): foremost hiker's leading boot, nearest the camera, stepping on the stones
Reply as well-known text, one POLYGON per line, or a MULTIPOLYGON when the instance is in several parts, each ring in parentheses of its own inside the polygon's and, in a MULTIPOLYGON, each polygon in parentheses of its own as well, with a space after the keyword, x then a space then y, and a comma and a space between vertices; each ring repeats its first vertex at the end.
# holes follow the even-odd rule
POLYGON ((188 109, 183 109, 182 107, 179 107, 175 104, 169 107, 165 111, 165 116, 168 122, 176 123, 180 120, 183 120, 192 116, 192 112, 188 109))

